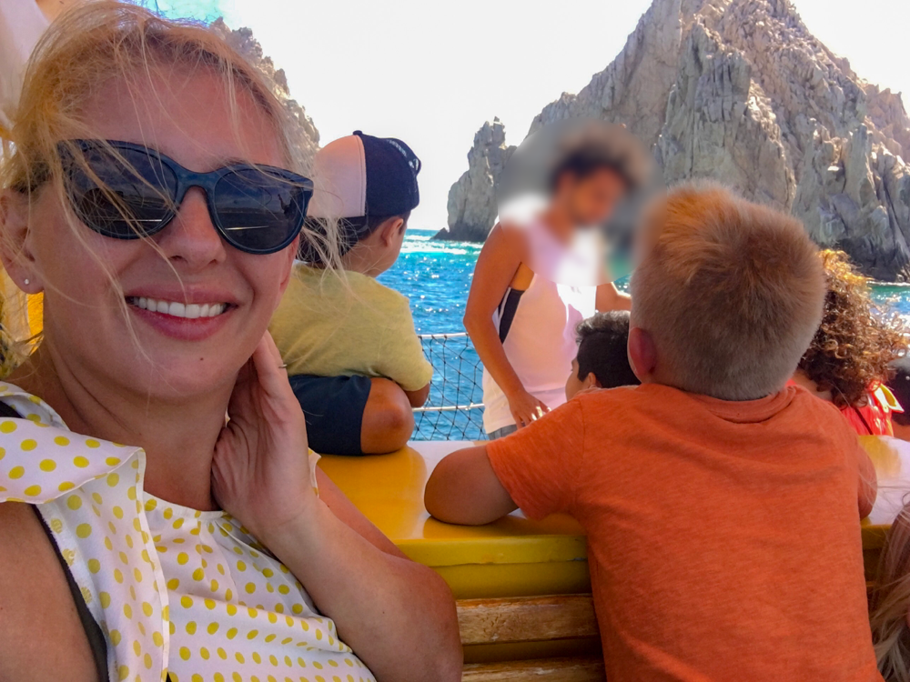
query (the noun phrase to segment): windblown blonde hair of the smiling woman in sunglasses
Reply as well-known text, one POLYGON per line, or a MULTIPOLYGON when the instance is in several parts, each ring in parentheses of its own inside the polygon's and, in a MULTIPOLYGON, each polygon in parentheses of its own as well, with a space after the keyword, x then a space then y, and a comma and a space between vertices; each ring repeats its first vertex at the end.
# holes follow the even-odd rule
MULTIPOLYGON (((217 31, 195 22, 168 20, 136 5, 100 0, 61 15, 35 46, 11 116, 12 127, 2 132, 5 153, 0 155, 0 187, 33 198, 38 186, 49 183, 66 206, 66 188, 60 181, 61 143, 66 155, 98 182, 82 150, 66 141, 99 137, 95 122, 86 115, 86 105, 99 87, 122 83, 135 100, 160 66, 215 75, 227 93, 235 131, 243 124, 236 106, 238 94, 251 97, 274 126, 288 169, 306 174, 310 150, 300 148, 299 121, 274 94, 268 76, 250 65, 217 31)), ((108 149, 116 155, 113 148, 108 149)), ((116 199, 106 187, 102 190, 116 199)), ((71 228, 82 238, 85 227, 69 217, 71 228)), ((303 234, 330 266, 338 263, 337 236, 334 224, 324 236, 309 234, 306 228, 303 234)), ((56 284, 56 288, 62 287, 56 284)), ((4 301, 4 321, 14 313, 11 303, 8 298, 4 301)), ((15 354, 16 348, 24 347, 22 339, 11 338, 8 325, 3 328, 0 347, 15 354)), ((8 357, 4 361, 8 370, 8 357)))

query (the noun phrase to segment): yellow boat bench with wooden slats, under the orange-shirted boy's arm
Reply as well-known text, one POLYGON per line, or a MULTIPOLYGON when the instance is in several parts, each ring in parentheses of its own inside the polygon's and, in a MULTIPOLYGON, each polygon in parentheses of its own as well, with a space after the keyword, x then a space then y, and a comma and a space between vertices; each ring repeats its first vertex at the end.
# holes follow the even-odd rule
MULTIPOLYGON (((440 523, 423 506, 427 478, 442 456, 471 444, 412 445, 384 456, 324 456, 319 466, 406 555, 449 583, 458 600, 462 679, 603 682, 581 527, 570 517, 535 522, 520 513, 483 527, 440 523)), ((875 438, 864 446, 883 487, 898 480, 902 468, 910 472, 910 448, 900 451, 875 438)), ((878 516, 889 513, 883 508, 878 516)), ((876 513, 864 521, 870 580, 886 528, 876 513)))

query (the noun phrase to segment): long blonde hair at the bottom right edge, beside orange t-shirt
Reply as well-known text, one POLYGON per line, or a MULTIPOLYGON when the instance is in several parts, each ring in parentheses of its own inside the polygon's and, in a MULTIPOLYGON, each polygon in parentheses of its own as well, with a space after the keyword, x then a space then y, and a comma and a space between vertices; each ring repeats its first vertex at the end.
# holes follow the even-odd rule
POLYGON ((888 531, 872 593, 872 637, 878 669, 888 682, 910 682, 910 505, 888 531))

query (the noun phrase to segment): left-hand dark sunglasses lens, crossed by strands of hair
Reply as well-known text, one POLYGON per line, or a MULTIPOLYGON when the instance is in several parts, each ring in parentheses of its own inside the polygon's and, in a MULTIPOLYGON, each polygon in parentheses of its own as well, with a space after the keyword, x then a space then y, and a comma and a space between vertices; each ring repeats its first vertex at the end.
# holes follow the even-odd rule
POLYGON ((116 239, 154 235, 174 216, 177 176, 153 155, 101 147, 85 151, 86 165, 65 159, 76 215, 97 233, 116 239))

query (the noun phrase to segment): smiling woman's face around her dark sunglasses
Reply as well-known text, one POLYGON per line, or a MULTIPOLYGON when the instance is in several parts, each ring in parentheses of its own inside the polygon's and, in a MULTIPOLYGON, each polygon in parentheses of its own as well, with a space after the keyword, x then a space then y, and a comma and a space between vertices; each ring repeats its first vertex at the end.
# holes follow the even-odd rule
MULTIPOLYGON (((97 137, 147 145, 198 172, 238 160, 288 165, 268 115, 240 90, 232 111, 205 69, 162 69, 138 89, 98 89, 86 107, 97 137)), ((78 221, 74 231, 67 213, 45 187, 25 241, 32 282, 45 292, 45 351, 64 364, 57 372, 177 402, 233 385, 278 306, 297 243, 268 256, 227 245, 198 187, 149 240, 100 236, 78 221), (208 316, 187 317, 187 307, 208 316)))

